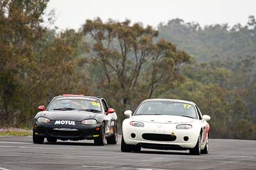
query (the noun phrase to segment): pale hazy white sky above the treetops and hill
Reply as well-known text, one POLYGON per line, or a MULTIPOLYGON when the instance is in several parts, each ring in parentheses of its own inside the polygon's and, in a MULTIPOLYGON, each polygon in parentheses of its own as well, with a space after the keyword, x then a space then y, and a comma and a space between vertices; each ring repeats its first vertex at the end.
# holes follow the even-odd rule
POLYGON ((55 25, 78 29, 86 19, 100 17, 142 22, 157 27, 173 18, 200 25, 246 24, 256 17, 256 0, 50 0, 47 11, 55 10, 55 25))

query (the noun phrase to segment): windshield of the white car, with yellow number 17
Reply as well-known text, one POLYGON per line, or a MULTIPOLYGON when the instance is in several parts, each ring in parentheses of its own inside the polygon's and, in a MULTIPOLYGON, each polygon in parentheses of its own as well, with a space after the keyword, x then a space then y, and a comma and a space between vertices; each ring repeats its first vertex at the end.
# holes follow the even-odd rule
POLYGON ((134 115, 174 115, 197 119, 193 105, 172 101, 149 101, 142 103, 134 115))

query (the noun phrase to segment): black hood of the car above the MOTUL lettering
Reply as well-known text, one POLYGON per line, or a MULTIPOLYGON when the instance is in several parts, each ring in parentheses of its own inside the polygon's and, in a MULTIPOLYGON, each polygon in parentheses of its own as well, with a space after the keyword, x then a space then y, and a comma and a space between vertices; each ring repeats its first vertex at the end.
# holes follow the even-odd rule
POLYGON ((41 111, 39 117, 46 117, 50 120, 74 120, 82 121, 87 118, 95 118, 98 113, 90 111, 41 111))

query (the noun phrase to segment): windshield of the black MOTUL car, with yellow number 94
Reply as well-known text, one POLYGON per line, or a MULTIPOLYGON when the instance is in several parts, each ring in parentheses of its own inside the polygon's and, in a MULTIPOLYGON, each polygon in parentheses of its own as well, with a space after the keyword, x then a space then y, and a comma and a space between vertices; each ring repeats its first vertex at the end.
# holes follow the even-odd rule
POLYGON ((100 111, 99 99, 90 97, 58 97, 52 101, 48 110, 87 110, 100 111))

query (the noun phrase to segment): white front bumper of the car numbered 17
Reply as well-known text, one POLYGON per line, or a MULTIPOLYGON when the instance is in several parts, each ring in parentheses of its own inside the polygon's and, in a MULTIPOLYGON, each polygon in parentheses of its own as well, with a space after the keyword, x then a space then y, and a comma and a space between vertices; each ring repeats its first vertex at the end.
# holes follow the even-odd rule
POLYGON ((195 147, 200 133, 196 127, 192 127, 191 129, 176 129, 177 124, 149 122, 144 124, 144 127, 123 124, 123 136, 127 145, 139 145, 143 148, 164 150, 187 150, 195 147), (159 136, 159 138, 156 136, 159 136))

